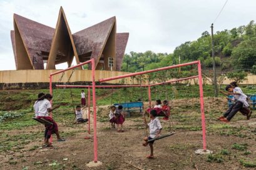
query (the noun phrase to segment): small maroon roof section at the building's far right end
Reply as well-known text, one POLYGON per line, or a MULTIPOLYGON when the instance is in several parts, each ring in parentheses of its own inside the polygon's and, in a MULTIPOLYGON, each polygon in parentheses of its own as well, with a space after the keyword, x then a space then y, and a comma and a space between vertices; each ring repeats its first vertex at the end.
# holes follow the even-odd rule
POLYGON ((116 33, 116 71, 121 70, 123 55, 125 55, 128 37, 128 32, 116 33))

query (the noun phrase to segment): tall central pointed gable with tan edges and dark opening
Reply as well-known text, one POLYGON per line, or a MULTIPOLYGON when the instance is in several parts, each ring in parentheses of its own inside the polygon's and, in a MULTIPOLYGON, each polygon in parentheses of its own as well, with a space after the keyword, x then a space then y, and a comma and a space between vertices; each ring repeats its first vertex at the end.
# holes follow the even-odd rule
POLYGON ((70 67, 73 61, 73 55, 75 55, 76 62, 79 64, 73 36, 69 29, 68 21, 66 20, 63 8, 61 7, 59 9, 58 21, 54 31, 53 42, 51 43, 51 50, 49 52, 46 69, 55 69, 56 64, 63 62, 68 62, 68 67, 70 67), (58 55, 58 52, 61 52, 63 55, 58 55))

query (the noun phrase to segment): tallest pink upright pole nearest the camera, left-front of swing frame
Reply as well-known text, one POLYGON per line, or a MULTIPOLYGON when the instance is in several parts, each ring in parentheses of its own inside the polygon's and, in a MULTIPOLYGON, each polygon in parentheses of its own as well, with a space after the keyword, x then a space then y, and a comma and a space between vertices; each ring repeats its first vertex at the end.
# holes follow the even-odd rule
POLYGON ((96 116, 96 95, 95 95, 95 60, 91 60, 91 82, 93 85, 93 145, 95 153, 95 163, 98 162, 98 141, 97 141, 97 116, 96 116))

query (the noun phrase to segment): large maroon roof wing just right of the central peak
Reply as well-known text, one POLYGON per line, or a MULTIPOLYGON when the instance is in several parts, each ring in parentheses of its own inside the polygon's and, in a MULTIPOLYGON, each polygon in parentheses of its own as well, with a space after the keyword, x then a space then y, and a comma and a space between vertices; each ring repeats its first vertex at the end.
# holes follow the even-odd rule
POLYGON ((95 59, 95 65, 97 65, 110 32, 113 26, 115 26, 115 22, 116 17, 111 17, 94 26, 74 33, 74 44, 76 45, 78 55, 91 52, 91 58, 95 59))

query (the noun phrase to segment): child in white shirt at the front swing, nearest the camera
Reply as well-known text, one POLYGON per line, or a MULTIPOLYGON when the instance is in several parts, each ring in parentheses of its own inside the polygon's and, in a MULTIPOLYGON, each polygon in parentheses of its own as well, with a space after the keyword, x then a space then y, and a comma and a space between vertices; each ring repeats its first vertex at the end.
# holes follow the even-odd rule
POLYGON ((145 125, 148 128, 150 128, 150 136, 143 139, 145 141, 145 143, 143 143, 143 146, 147 146, 148 144, 150 144, 150 155, 146 156, 146 158, 154 158, 154 154, 153 154, 154 141, 148 142, 148 140, 158 138, 162 130, 161 123, 158 120, 158 118, 156 118, 156 115, 157 115, 156 110, 150 111, 150 123, 146 123, 146 118, 144 117, 145 125))

